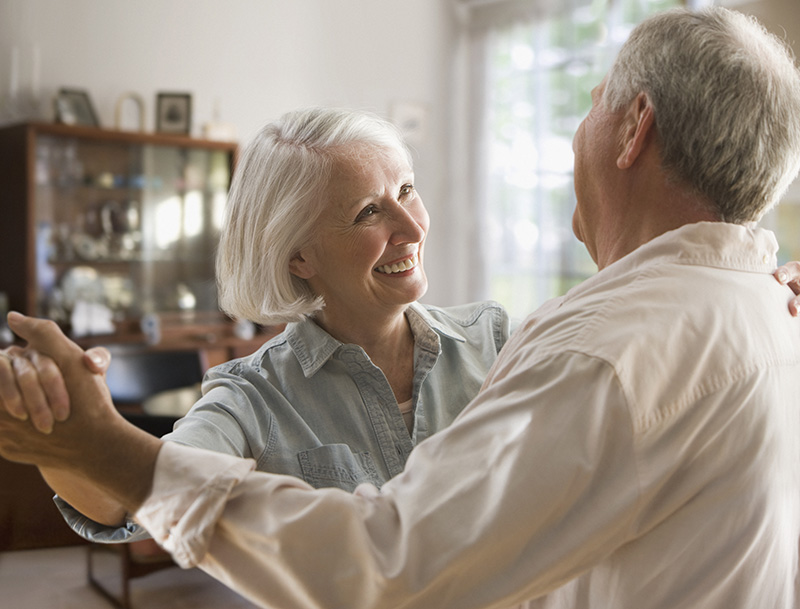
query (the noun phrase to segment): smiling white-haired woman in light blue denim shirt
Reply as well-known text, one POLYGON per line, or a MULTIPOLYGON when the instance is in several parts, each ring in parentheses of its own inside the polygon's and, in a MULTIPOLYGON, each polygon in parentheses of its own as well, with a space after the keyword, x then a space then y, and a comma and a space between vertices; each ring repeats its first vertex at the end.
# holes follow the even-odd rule
MULTIPOLYGON (((477 394, 509 334, 496 303, 416 302, 428 285, 428 225, 391 124, 311 109, 267 125, 237 166, 217 278, 231 316, 287 326, 210 370, 203 397, 165 438, 315 487, 380 487, 402 471, 414 445, 477 394)), ((144 533, 100 526, 122 523, 122 508, 80 480, 42 473, 82 535, 144 533)))

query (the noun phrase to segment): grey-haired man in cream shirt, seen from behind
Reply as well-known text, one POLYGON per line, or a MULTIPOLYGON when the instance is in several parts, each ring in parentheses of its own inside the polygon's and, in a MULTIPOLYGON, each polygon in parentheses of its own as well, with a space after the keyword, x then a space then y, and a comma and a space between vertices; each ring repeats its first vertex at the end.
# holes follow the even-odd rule
POLYGON ((0 452, 93 479, 180 564, 263 606, 794 607, 800 326, 751 223, 800 164, 798 70, 740 14, 663 13, 574 148, 573 227, 600 272, 526 320, 380 492, 162 445, 55 326, 19 315, 74 412, 49 436, 0 419, 0 452))

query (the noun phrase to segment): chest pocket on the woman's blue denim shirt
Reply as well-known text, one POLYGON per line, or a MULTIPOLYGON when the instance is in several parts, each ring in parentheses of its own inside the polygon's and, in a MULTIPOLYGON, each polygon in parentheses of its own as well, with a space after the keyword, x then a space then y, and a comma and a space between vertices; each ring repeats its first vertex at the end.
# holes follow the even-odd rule
POLYGON ((382 480, 368 452, 353 452, 347 444, 328 444, 298 453, 303 479, 314 488, 336 487, 353 492, 364 482, 382 480))

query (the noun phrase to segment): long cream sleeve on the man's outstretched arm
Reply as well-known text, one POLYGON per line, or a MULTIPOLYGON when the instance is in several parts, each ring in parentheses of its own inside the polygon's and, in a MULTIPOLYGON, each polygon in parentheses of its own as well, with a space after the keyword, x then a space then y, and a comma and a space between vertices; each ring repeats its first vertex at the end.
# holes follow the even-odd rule
POLYGON ((381 491, 313 490, 167 444, 136 518, 179 564, 265 606, 510 606, 631 538, 632 444, 604 362, 512 359, 381 491))

